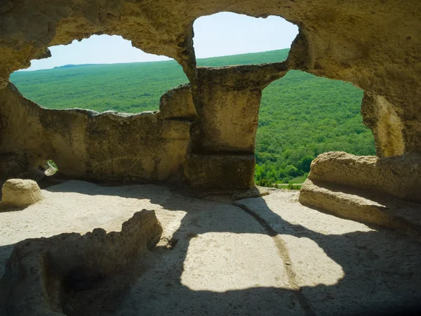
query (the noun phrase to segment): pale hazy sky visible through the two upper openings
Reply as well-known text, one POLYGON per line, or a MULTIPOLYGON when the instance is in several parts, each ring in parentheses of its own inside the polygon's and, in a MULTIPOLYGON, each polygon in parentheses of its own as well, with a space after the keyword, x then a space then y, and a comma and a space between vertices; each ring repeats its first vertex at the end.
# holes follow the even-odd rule
MULTIPOLYGON (((298 27, 283 20, 251 18, 235 13, 217 13, 194 22, 194 48, 197 58, 289 48, 298 27)), ((40 70, 67 64, 101 64, 168 60, 166 56, 143 53, 122 37, 93 35, 67 46, 50 47, 51 58, 32 60, 27 70, 40 70)))

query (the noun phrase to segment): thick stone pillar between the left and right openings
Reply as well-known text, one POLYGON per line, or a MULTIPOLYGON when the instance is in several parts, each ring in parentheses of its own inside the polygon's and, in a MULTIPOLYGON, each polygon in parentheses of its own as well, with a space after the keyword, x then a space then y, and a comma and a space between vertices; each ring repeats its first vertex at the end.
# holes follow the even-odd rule
POLYGON ((190 129, 185 183, 208 189, 254 186, 255 135, 262 90, 286 64, 199 67, 192 84, 198 119, 190 129))

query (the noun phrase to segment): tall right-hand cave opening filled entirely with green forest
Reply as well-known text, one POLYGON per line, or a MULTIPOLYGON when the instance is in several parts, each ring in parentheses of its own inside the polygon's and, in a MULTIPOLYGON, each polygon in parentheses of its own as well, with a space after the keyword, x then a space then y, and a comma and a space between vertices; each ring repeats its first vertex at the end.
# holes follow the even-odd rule
POLYGON ((295 70, 267 86, 256 136, 256 184, 299 190, 323 152, 375 155, 362 98, 352 84, 295 70))

